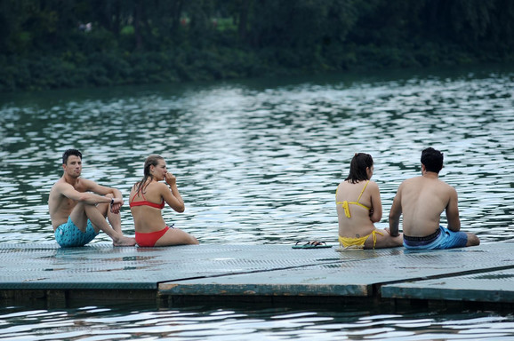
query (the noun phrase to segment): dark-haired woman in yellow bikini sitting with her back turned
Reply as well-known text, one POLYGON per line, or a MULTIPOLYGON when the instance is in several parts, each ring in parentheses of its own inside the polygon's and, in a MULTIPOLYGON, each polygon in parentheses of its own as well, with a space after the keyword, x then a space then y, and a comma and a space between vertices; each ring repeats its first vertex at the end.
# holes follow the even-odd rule
POLYGON ((381 249, 403 245, 403 236, 390 234, 389 228, 377 229, 381 220, 378 185, 371 181, 373 158, 357 153, 351 159, 349 176, 337 186, 335 202, 339 220, 339 242, 344 249, 381 249))

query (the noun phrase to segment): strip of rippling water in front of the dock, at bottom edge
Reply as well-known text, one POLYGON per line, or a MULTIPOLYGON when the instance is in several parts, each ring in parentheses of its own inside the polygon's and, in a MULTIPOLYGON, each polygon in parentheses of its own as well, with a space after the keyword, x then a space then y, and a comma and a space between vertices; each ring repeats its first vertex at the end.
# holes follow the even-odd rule
POLYGON ((381 339, 443 340, 509 338, 511 315, 481 312, 380 313, 335 309, 238 309, 194 307, 148 310, 83 306, 68 310, 0 310, 0 339, 381 339), (202 312, 202 313, 198 313, 202 312), (448 318, 451 318, 449 320, 448 318))

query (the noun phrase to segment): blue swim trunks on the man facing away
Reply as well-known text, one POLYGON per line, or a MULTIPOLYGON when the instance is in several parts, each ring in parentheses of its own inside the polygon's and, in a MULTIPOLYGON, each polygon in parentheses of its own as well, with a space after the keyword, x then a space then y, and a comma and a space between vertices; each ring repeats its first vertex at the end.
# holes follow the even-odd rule
POLYGON ((463 248, 468 243, 468 234, 454 232, 446 227, 439 229, 427 237, 409 237, 404 234, 404 246, 411 250, 437 250, 463 248))

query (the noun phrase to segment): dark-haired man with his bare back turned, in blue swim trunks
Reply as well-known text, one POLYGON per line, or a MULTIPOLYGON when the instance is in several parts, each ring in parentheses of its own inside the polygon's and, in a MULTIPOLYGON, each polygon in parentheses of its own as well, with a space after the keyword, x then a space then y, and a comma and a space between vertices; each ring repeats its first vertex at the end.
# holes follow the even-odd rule
POLYGON ((422 152, 422 176, 406 179, 399 187, 390 210, 390 229, 398 231, 403 218, 407 249, 452 249, 480 244, 477 235, 461 231, 457 191, 439 179, 443 153, 434 148, 422 152), (446 211, 448 226, 439 225, 446 211))

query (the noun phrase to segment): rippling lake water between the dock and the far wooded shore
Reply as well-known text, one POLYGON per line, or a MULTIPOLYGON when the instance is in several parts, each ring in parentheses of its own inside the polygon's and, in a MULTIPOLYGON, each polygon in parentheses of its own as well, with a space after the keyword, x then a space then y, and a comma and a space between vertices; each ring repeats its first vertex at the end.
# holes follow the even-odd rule
MULTIPOLYGON (((200 242, 336 242, 333 194, 351 156, 375 160, 384 218, 399 183, 441 149, 462 228, 512 238, 512 73, 398 79, 194 84, 52 91, 0 108, 2 242, 53 242, 46 201, 68 147, 84 177, 128 196, 147 155, 164 155, 187 204, 165 219, 200 242)), ((124 230, 133 233, 128 208, 124 230)), ((101 235, 96 242, 108 241, 101 235)))

